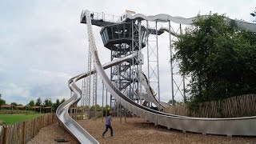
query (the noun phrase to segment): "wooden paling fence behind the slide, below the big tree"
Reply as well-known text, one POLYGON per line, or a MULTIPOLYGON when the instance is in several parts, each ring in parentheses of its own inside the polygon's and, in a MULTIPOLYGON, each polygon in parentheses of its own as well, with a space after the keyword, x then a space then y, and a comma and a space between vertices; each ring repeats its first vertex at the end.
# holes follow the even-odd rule
POLYGON ((198 110, 186 105, 170 106, 167 113, 200 118, 238 118, 256 116, 256 94, 226 98, 221 101, 202 102, 198 110))

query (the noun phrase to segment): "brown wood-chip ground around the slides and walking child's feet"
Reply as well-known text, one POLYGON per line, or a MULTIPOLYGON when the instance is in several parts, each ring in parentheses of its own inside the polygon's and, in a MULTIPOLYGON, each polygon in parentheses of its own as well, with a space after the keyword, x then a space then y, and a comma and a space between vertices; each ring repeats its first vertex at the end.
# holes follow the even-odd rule
MULTIPOLYGON (((100 143, 256 143, 256 138, 253 137, 227 137, 210 134, 194 134, 182 133, 180 130, 167 130, 165 127, 155 127, 154 124, 146 122, 142 118, 127 118, 126 122, 122 118, 114 118, 112 127, 114 129, 114 137, 110 137, 110 130, 106 133, 105 138, 101 138, 101 134, 105 129, 105 119, 78 121, 94 138, 100 143)), ((66 132, 57 123, 46 126, 40 130, 29 144, 32 143, 58 143, 54 142, 55 138, 65 138, 69 142, 78 143, 70 134, 66 132)))

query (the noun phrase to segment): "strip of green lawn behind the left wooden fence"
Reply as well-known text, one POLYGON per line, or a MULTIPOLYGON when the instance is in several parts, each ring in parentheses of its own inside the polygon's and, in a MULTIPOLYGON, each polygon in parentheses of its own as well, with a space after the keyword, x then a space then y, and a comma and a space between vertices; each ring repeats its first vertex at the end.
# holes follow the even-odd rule
POLYGON ((16 122, 23 122, 28 119, 37 118, 42 114, 0 114, 0 120, 6 125, 12 125, 16 122))

